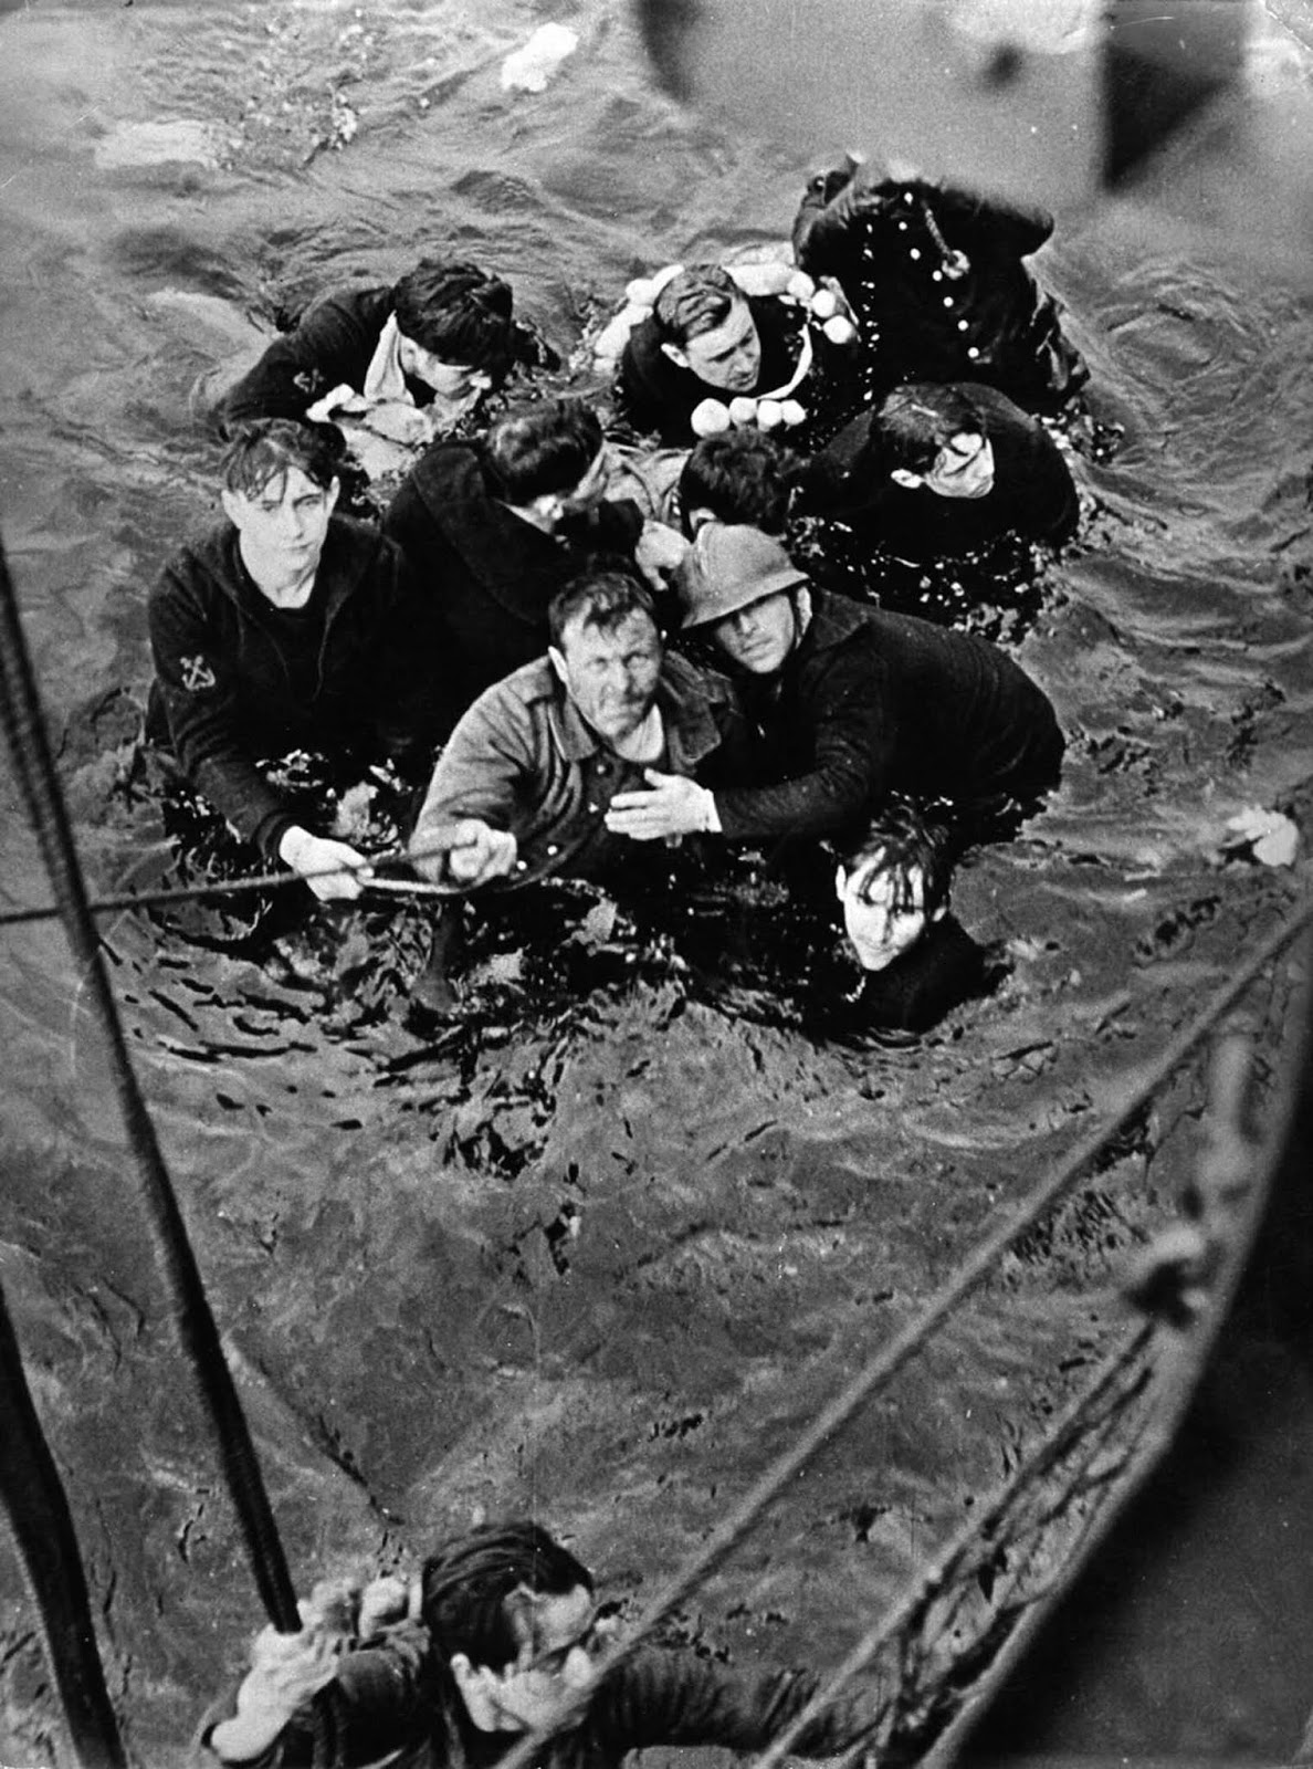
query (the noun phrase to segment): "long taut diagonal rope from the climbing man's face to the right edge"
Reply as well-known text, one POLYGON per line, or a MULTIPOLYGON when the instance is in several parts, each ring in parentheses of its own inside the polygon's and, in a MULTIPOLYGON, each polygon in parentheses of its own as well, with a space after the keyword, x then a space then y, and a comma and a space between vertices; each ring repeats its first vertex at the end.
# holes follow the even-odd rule
POLYGON ((911 1320, 902 1332, 853 1376, 853 1380, 830 1401, 812 1421, 798 1442, 779 1456, 761 1479, 745 1493, 729 1516, 717 1525, 699 1548, 648 1603, 628 1636, 602 1654, 595 1666, 589 1686, 573 1693, 538 1732, 527 1734, 499 1764, 499 1769, 527 1769, 534 1753, 545 1739, 554 1737, 570 1725, 586 1707, 591 1688, 605 1673, 628 1658, 648 1635, 671 1613, 671 1610, 695 1590, 726 1558, 734 1544, 752 1528, 766 1505, 812 1461, 823 1445, 853 1417, 853 1413, 883 1389, 915 1352, 936 1332, 936 1329, 966 1300, 971 1291, 984 1283, 1002 1256, 1021 1240, 1035 1222, 1069 1192, 1085 1168, 1117 1137, 1143 1106, 1154 1097, 1157 1088, 1186 1061, 1186 1058, 1207 1038, 1217 1021, 1244 994, 1253 980, 1269 966, 1294 939, 1313 922, 1313 899, 1299 904, 1294 915, 1272 932, 1239 973, 1225 984, 1193 1021, 1166 1045, 1163 1053, 1143 1072, 1141 1081, 1131 1088, 1125 1102, 1113 1118, 1097 1132, 1090 1132, 1056 1173, 1039 1185, 1010 1210, 998 1228, 977 1244, 975 1251, 957 1267, 956 1275, 945 1283, 922 1313, 911 1320))

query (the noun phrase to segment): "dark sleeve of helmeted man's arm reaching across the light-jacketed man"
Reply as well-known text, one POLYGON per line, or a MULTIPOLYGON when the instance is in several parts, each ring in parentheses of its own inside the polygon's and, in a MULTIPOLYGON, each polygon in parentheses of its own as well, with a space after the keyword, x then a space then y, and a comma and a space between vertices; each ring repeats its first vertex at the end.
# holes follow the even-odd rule
MULTIPOLYGON (((895 732, 887 670, 864 644, 846 653, 809 697, 807 764, 768 785, 715 793, 731 840, 839 835, 888 791, 895 732)), ((807 734, 795 736, 805 741, 807 734)))

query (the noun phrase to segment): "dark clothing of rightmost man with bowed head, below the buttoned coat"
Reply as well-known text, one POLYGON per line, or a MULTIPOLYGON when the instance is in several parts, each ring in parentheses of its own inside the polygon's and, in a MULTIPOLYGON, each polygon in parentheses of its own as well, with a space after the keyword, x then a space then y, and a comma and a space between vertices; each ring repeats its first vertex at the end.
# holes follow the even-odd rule
POLYGON ((961 559, 1005 534, 1060 547, 1076 529, 1079 499, 1062 449, 1039 419, 996 387, 961 382, 980 409, 994 451, 994 483, 984 497, 940 497, 897 485, 864 453, 874 417, 864 412, 839 432, 823 462, 839 474, 805 509, 846 522, 872 550, 899 559, 961 559))

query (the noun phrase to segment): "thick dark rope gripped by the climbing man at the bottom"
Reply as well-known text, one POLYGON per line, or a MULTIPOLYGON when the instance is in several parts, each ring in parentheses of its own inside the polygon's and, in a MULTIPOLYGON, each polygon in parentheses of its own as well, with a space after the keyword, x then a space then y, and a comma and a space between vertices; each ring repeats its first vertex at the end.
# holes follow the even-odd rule
POLYGON ((205 1297, 156 1129, 127 1054, 122 1021, 87 907, 87 888, 41 716, 41 697, 4 547, 0 547, 0 688, 4 690, 0 693, 0 720, 55 895, 64 911, 69 945, 83 968, 87 996, 101 1024, 113 1088, 119 1095, 142 1198, 154 1229, 156 1254, 163 1267, 172 1313, 205 1399, 251 1573, 274 1627, 281 1633, 297 1633, 301 1615, 296 1589, 260 1475, 255 1444, 232 1371, 223 1357, 219 1330, 205 1297))

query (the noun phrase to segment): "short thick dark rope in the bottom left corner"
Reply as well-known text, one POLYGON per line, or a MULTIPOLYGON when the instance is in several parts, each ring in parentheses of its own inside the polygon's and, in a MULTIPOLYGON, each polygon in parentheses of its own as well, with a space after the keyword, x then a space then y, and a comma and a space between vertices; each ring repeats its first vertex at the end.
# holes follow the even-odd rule
POLYGON ((83 1769, 126 1769, 119 1719, 96 1649, 78 1532, 32 1405, 14 1323, 0 1290, 0 1493, 41 1617, 46 1659, 83 1769))

